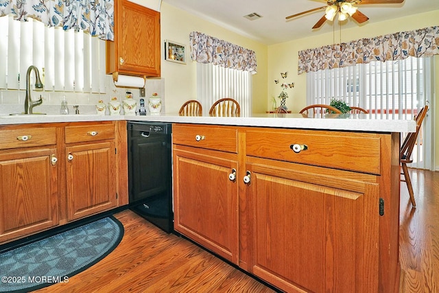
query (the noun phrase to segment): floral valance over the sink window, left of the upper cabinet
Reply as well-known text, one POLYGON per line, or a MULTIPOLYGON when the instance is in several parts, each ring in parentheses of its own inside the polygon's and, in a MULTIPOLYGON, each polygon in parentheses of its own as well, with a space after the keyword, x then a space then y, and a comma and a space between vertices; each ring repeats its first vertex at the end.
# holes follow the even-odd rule
POLYGON ((114 0, 0 0, 0 16, 8 14, 18 21, 32 18, 50 27, 114 39, 114 0))

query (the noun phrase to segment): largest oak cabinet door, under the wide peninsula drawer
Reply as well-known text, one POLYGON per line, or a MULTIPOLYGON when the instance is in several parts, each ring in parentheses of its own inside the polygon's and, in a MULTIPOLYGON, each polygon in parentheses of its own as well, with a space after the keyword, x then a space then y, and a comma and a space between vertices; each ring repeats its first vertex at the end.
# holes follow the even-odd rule
POLYGON ((287 292, 378 291, 373 176, 265 159, 247 167, 254 274, 287 292))

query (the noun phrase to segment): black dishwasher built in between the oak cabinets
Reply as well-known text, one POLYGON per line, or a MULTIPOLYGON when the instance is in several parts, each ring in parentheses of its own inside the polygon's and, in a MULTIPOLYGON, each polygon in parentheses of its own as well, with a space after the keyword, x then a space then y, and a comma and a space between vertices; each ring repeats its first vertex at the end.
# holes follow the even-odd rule
POLYGON ((167 233, 172 211, 171 124, 128 121, 130 209, 167 233))

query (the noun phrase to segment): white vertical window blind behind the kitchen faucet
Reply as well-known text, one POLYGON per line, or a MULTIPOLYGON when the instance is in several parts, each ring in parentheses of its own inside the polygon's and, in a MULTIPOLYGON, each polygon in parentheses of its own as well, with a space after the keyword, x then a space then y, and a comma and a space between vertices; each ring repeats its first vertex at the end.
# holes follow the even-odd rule
POLYGON ((25 89, 34 65, 45 91, 105 93, 104 40, 34 19, 14 21, 12 14, 0 17, 0 27, 0 89, 25 89))

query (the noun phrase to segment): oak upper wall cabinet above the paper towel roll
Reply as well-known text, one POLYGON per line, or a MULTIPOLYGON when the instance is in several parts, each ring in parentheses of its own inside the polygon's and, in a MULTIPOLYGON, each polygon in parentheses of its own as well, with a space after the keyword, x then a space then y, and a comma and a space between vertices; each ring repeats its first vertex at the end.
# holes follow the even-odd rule
POLYGON ((106 73, 161 75, 160 12, 115 1, 115 40, 106 42, 106 73))

